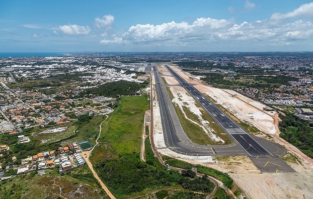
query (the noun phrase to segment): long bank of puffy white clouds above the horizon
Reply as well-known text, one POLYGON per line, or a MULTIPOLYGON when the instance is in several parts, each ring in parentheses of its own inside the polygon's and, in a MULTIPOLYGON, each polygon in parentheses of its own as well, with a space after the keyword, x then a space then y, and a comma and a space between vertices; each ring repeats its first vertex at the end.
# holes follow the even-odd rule
POLYGON ((119 35, 105 35, 99 43, 143 44, 150 46, 186 46, 212 42, 247 41, 251 45, 262 41, 264 44, 290 44, 295 40, 313 40, 313 23, 298 20, 284 23, 278 20, 257 20, 235 23, 234 19, 201 17, 192 24, 187 22, 137 24, 119 35))

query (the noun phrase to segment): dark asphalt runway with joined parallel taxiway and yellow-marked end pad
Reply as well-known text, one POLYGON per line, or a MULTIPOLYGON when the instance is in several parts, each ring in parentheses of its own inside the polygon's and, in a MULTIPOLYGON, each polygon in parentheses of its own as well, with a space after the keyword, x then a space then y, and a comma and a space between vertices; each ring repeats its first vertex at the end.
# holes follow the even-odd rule
POLYGON ((163 85, 157 68, 153 66, 166 148, 190 156, 248 156, 261 172, 294 172, 278 157, 287 152, 282 146, 250 135, 193 86, 182 80, 170 68, 166 68, 233 140, 228 145, 198 145, 191 142, 180 125, 166 85, 163 85))

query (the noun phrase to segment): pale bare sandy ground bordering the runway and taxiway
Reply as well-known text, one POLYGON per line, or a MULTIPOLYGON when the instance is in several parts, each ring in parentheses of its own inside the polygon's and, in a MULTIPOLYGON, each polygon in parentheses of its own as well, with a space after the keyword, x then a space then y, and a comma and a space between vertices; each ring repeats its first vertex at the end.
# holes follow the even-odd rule
MULTIPOLYGON (((159 67, 159 69, 167 84, 177 85, 177 82, 170 77, 165 68, 159 67)), ((289 153, 297 155, 301 164, 288 163, 297 171, 296 173, 261 174, 247 157, 222 157, 215 160, 212 157, 182 156, 164 148, 158 149, 161 154, 183 159, 193 164, 203 164, 229 173, 251 199, 313 199, 313 161, 278 136, 277 124, 279 118, 275 112, 263 111, 265 104, 246 98, 235 91, 223 91, 209 87, 203 84, 198 77, 181 72, 178 68, 174 68, 174 70, 189 83, 195 84, 200 92, 216 100, 217 103, 228 109, 237 118, 249 122, 260 131, 272 136, 277 143, 285 146, 289 153)), ((154 98, 153 101, 154 136, 156 146, 162 148, 165 147, 165 144, 156 100, 154 98)))

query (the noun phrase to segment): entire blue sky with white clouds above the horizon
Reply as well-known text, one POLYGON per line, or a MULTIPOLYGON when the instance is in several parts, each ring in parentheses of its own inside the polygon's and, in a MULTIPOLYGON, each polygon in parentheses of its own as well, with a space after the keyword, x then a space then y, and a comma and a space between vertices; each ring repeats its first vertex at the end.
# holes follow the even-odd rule
POLYGON ((313 51, 311 0, 0 0, 0 52, 313 51))

